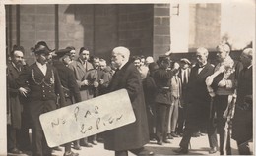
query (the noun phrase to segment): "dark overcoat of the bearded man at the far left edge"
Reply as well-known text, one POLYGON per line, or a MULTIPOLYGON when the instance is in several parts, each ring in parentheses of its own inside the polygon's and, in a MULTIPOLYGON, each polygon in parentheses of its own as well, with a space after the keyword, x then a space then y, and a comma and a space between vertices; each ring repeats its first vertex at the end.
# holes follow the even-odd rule
POLYGON ((7 109, 11 113, 11 125, 13 128, 21 128, 22 106, 19 99, 19 87, 16 83, 21 71, 13 66, 12 63, 7 65, 7 109))

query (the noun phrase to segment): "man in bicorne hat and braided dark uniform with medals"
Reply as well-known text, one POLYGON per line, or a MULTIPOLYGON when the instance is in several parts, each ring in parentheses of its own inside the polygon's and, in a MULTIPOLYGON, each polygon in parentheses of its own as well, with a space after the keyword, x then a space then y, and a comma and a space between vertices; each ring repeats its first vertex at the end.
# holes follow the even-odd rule
POLYGON ((31 49, 34 52, 36 62, 21 73, 17 79, 17 84, 27 88, 23 94, 29 98, 28 105, 32 119, 32 155, 48 156, 51 155, 51 150, 46 144, 39 116, 57 108, 58 95, 60 107, 65 106, 65 98, 58 72, 54 67, 47 64, 47 55, 52 50, 44 41, 38 42, 31 49))

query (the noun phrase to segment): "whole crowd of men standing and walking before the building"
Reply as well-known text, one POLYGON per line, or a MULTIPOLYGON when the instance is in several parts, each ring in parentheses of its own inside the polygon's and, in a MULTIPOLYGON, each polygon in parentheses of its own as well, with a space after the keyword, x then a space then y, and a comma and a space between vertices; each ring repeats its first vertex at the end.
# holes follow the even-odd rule
POLYGON ((136 122, 64 144, 64 156, 93 147, 102 141, 115 156, 154 155, 144 148, 182 137, 174 152, 187 154, 191 137, 207 133, 209 153, 231 155, 230 139, 241 155, 250 155, 252 141, 252 48, 245 48, 239 60, 230 57, 227 43, 217 46, 218 64, 209 62, 209 52, 196 50, 196 62, 172 60, 165 54, 131 56, 126 47, 116 47, 111 62, 91 56, 81 47, 76 56, 72 46, 51 50, 39 41, 31 48, 35 63, 26 64, 25 50, 14 46, 7 62, 8 152, 50 156, 59 147, 47 146, 39 116, 61 107, 92 99, 118 89, 128 91, 136 122), (32 130, 30 140, 29 130, 32 130), (217 134, 220 135, 218 142, 217 134))

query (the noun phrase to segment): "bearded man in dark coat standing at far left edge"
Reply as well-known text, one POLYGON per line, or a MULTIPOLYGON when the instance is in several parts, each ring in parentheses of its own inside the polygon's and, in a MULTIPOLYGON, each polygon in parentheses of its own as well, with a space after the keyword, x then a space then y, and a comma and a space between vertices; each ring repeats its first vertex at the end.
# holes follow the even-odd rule
POLYGON ((7 64, 7 111, 10 119, 7 122, 7 148, 8 152, 21 154, 18 146, 18 131, 22 126, 22 106, 21 95, 24 88, 19 88, 16 84, 17 78, 23 68, 24 48, 14 45, 11 51, 11 62, 7 64))

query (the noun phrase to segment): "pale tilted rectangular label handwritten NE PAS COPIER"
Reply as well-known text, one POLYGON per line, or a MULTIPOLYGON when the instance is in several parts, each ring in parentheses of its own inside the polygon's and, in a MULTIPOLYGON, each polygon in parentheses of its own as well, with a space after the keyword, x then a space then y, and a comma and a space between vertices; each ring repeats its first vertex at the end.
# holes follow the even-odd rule
POLYGON ((49 147, 135 122, 125 89, 40 115, 49 147))

